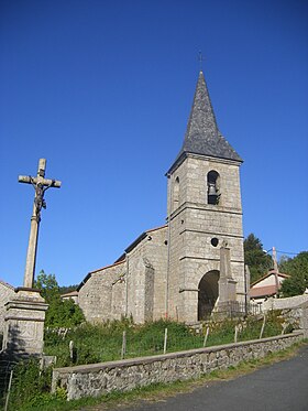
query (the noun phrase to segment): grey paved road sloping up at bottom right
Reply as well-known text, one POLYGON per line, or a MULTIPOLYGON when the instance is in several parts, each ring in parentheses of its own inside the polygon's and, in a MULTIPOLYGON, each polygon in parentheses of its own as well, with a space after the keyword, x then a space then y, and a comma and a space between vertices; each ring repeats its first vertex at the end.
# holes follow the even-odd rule
POLYGON ((308 347, 285 361, 125 411, 308 411, 308 347))

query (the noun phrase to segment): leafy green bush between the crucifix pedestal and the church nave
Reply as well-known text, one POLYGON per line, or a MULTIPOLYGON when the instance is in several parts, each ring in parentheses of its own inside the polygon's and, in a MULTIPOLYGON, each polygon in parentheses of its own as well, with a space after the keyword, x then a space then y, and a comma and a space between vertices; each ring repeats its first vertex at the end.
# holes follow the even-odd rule
POLYGON ((46 311, 45 326, 51 328, 74 327, 85 321, 79 305, 75 304, 73 300, 62 300, 54 274, 45 274, 44 271, 41 271, 34 285, 42 290, 42 296, 50 304, 46 311))

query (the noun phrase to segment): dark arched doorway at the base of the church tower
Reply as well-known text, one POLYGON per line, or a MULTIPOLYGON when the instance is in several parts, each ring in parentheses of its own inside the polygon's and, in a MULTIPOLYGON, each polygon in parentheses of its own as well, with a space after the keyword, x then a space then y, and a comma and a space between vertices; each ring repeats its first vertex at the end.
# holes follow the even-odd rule
POLYGON ((219 271, 207 272, 199 282, 198 321, 208 320, 218 299, 219 271))

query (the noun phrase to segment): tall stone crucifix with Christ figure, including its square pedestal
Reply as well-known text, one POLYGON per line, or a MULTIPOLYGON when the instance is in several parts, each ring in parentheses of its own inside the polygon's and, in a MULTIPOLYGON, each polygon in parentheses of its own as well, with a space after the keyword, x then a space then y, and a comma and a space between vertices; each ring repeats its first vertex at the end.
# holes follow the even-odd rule
POLYGON ((41 210, 46 208, 44 193, 61 187, 61 182, 45 179, 46 160, 41 159, 36 177, 20 175, 19 182, 34 187, 34 205, 26 253, 23 286, 14 290, 6 304, 2 349, 9 356, 41 356, 43 354, 44 321, 48 305, 33 288, 41 210))

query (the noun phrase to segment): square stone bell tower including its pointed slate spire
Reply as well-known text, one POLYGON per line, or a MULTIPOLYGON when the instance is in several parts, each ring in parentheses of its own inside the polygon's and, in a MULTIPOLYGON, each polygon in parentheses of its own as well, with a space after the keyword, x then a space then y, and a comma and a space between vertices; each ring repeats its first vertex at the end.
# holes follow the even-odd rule
POLYGON ((240 165, 220 133, 204 73, 199 73, 183 147, 167 172, 166 314, 206 320, 244 300, 240 165))

